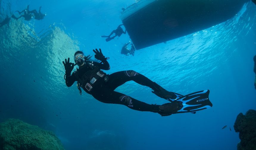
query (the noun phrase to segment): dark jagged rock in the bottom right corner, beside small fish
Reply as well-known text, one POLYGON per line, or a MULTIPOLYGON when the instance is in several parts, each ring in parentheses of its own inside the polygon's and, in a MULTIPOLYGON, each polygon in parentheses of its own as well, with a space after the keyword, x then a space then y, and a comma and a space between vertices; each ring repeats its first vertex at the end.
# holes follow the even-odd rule
POLYGON ((256 110, 248 110, 245 115, 238 114, 234 124, 235 132, 239 132, 238 150, 256 149, 256 110))

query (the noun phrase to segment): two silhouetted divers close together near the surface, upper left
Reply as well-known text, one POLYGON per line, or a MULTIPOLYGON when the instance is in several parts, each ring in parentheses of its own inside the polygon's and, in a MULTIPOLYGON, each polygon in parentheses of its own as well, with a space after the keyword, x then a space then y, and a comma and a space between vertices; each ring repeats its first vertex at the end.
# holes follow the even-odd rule
POLYGON ((15 11, 15 12, 18 12, 19 14, 23 13, 23 15, 20 15, 18 18, 15 17, 15 15, 12 15, 12 18, 14 18, 14 19, 16 19, 16 20, 19 19, 19 18, 21 18, 21 17, 24 17, 24 19, 25 19, 26 21, 29 21, 29 20, 32 19, 33 15, 35 16, 35 19, 36 19, 36 20, 41 20, 41 19, 44 18, 44 16, 46 16, 46 14, 42 14, 42 13, 41 13, 41 7, 39 8, 39 12, 37 12, 37 10, 32 10, 32 11, 30 11, 30 10, 29 10, 29 5, 27 6, 26 9, 22 10, 21 12, 19 12, 18 10, 15 11), (33 15, 32 15, 32 14, 33 14, 33 15))

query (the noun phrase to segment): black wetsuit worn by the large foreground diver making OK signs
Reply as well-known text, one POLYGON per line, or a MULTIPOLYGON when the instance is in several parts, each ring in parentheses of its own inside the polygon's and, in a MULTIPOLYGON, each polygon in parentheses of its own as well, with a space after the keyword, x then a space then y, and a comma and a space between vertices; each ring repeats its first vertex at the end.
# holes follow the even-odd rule
POLYGON ((80 66, 79 69, 77 69, 77 71, 74 71, 72 75, 66 74, 66 85, 70 87, 71 85, 74 84, 75 81, 81 81, 81 79, 85 79, 83 80, 83 83, 79 82, 80 87, 82 87, 85 90, 85 92, 91 94, 95 99, 101 102, 112 103, 112 104, 122 104, 133 110, 139 110, 139 111, 152 111, 154 110, 155 107, 159 106, 159 105, 147 104, 142 101, 138 101, 130 96, 127 96, 123 93, 114 91, 117 87, 119 87, 120 85, 124 84, 127 81, 135 81, 140 85, 148 86, 152 89, 159 86, 155 82, 148 79, 147 77, 132 70, 119 71, 110 75, 105 74, 103 77, 98 77, 98 79, 93 84, 90 84, 92 88, 90 89, 90 91, 88 91, 85 88, 85 85, 87 83, 89 84, 90 81, 92 81, 93 77, 97 78, 96 77, 97 75, 95 74, 96 71, 94 70, 95 67, 98 67, 98 69, 96 69, 97 71, 101 71, 100 69, 103 69, 103 70, 110 69, 110 66, 107 60, 104 61, 103 64, 98 62, 87 61, 86 64, 80 66), (91 74, 85 77, 84 75, 88 74, 88 72, 91 74), (105 81, 106 77, 108 77, 107 81, 105 81))

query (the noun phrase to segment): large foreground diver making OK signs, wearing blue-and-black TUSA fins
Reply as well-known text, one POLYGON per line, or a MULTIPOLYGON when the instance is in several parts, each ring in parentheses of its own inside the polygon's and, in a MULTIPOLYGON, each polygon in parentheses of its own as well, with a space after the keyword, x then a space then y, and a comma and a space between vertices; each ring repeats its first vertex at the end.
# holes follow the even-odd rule
POLYGON ((107 62, 109 57, 106 58, 102 54, 101 49, 93 49, 93 51, 95 53, 94 57, 100 60, 100 63, 89 61, 91 58, 90 55, 85 56, 82 51, 75 52, 75 64, 71 63, 69 58, 68 60, 65 59, 65 62, 63 61, 66 85, 71 87, 77 81, 77 88, 80 95, 82 95, 82 88, 86 93, 103 103, 122 104, 133 110, 156 112, 161 116, 183 112, 195 113, 196 111, 212 107, 212 103, 208 98, 209 90, 182 96, 178 93, 165 90, 146 76, 133 70, 119 71, 110 75, 106 74, 102 70, 110 69, 110 65, 107 62), (78 65, 79 68, 71 74, 75 65, 78 65), (123 93, 114 91, 127 81, 134 81, 140 85, 150 87, 153 90, 152 93, 170 102, 162 105, 147 104, 123 93))

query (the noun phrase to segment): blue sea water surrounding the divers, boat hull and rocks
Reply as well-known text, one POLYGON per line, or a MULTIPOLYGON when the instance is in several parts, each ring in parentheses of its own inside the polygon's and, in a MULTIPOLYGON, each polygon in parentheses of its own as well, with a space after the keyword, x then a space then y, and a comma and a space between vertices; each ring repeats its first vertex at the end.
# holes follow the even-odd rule
MULTIPOLYGON (((121 24, 121 8, 134 2, 0 0, 0 21, 28 4, 47 13, 40 21, 11 20, 0 28, 0 122, 18 118, 51 130, 67 150, 236 149, 236 116, 256 110, 255 4, 246 3, 226 22, 133 57, 120 54, 128 34, 110 42, 100 36, 121 24), (95 48, 110 57, 107 74, 135 70, 183 95, 209 89, 213 107, 161 117, 104 104, 84 91, 80 96, 75 84, 66 87, 62 61, 77 50, 92 55, 95 48)), ((116 90, 149 104, 167 102, 135 82, 116 90)))

